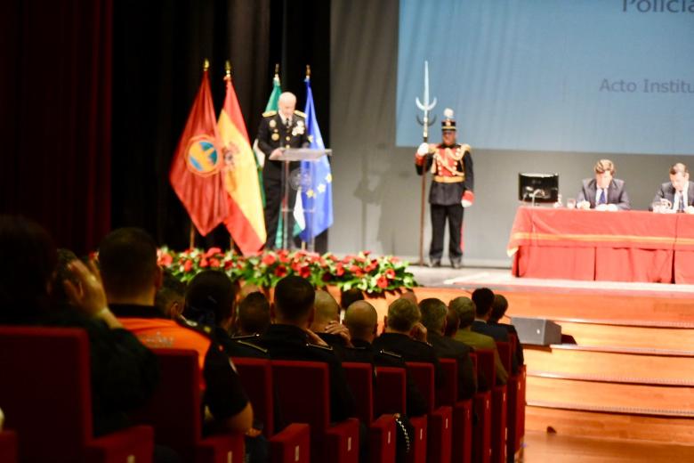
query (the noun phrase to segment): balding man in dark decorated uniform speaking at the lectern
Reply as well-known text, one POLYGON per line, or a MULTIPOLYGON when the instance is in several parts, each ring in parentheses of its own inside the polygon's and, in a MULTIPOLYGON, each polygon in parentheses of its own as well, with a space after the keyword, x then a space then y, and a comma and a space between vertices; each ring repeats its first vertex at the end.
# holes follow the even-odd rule
MULTIPOLYGON (((262 113, 258 128, 258 147, 265 153, 265 164, 262 167, 262 184, 265 191, 265 229, 268 233, 265 242, 266 249, 275 248, 275 236, 279 219, 280 205, 284 194, 282 185, 283 162, 275 160, 283 149, 308 148, 309 142, 306 131, 306 115, 295 110, 296 96, 285 92, 279 95, 278 110, 262 113)), ((298 161, 289 164, 289 172, 293 173, 300 167, 298 161)), ((295 174, 297 175, 298 170, 295 174)), ((296 185, 289 188, 289 207, 294 207, 296 185)), ((288 214, 288 228, 294 230, 294 215, 288 214)), ((291 237, 287 237, 291 241, 291 237)))

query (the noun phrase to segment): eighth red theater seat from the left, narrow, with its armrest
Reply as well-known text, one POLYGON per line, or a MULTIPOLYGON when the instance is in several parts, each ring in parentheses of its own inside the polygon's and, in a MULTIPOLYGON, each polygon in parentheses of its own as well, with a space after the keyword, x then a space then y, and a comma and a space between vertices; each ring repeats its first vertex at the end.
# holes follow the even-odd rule
POLYGON ((446 384, 437 392, 436 403, 453 408, 451 452, 453 461, 472 461, 472 400, 458 400, 458 363, 455 359, 439 359, 446 373, 446 384))

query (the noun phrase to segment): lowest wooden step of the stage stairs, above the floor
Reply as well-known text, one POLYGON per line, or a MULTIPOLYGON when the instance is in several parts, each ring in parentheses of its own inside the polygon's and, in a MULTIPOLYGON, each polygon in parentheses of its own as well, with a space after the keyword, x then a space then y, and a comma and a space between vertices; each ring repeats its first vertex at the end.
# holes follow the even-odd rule
POLYGON ((694 444, 694 418, 662 418, 534 405, 526 408, 526 430, 545 433, 548 426, 558 435, 694 444))

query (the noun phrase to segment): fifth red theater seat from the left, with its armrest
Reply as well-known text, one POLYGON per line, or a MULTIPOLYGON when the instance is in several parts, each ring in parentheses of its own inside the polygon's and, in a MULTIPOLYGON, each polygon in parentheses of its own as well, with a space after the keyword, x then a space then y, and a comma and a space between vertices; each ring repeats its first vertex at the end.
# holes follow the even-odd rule
POLYGON ((395 461, 395 418, 383 414, 374 419, 374 371, 369 363, 343 363, 344 373, 357 402, 359 420, 368 427, 368 453, 372 463, 395 461))

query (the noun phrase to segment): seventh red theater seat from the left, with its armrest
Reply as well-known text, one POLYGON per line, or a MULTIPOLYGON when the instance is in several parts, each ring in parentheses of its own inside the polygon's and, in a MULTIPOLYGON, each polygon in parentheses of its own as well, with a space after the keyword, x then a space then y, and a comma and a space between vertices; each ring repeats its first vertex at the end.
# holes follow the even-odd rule
POLYGON ((427 461, 446 462, 451 458, 453 410, 449 406, 435 407, 434 373, 432 363, 408 361, 416 386, 424 396, 429 409, 427 461))

